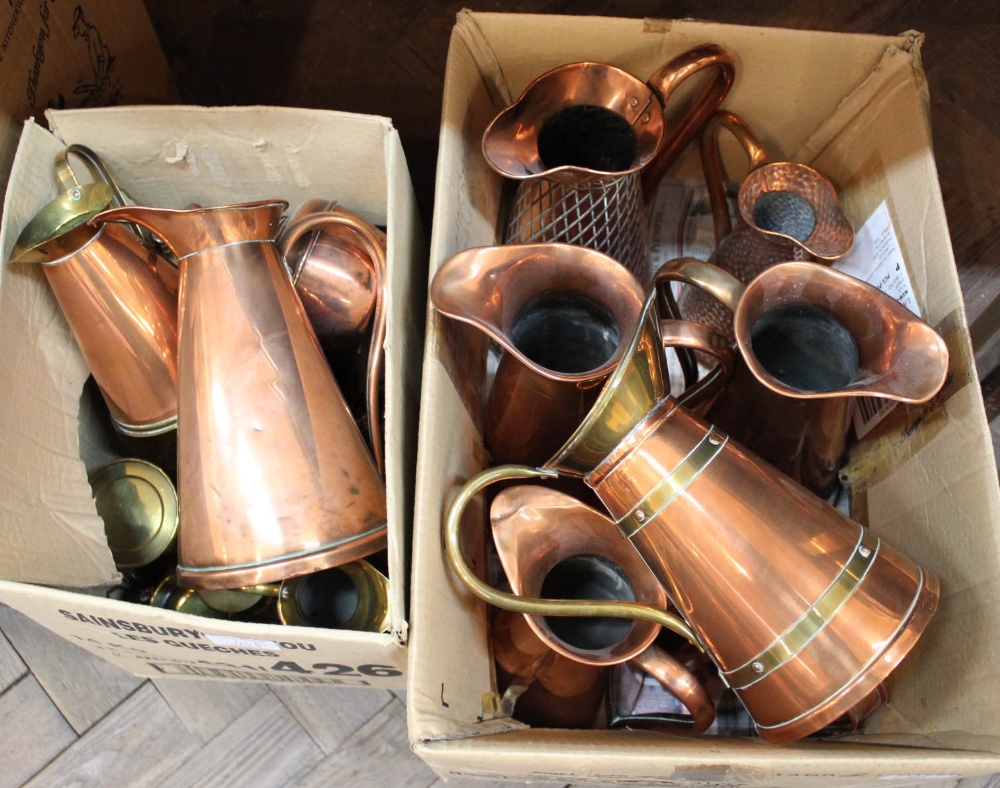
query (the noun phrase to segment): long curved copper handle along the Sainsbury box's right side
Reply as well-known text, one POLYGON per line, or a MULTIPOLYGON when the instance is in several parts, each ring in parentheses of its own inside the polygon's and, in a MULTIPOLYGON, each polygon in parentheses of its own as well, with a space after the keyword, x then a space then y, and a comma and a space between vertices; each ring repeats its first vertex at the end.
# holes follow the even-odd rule
POLYGON ((372 261, 375 275, 375 314, 372 318, 372 338, 368 351, 368 367, 365 382, 365 399, 368 408, 368 436, 372 447, 372 456, 379 472, 385 475, 385 450, 382 432, 379 429, 379 382, 382 377, 382 345, 385 342, 386 310, 385 281, 386 253, 383 240, 375 228, 343 208, 331 211, 318 211, 302 219, 289 223, 283 230, 279 242, 282 259, 286 259, 289 251, 302 236, 314 230, 325 230, 340 234, 359 242, 372 261))

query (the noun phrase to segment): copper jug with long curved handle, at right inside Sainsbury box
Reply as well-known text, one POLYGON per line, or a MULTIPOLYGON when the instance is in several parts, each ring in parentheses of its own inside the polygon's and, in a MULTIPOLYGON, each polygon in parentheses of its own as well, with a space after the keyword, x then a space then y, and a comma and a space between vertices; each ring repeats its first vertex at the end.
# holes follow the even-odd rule
POLYGON ((372 323, 365 376, 368 432, 375 464, 385 473, 381 397, 386 309, 386 239, 377 228, 344 208, 315 211, 293 218, 282 228, 283 257, 312 233, 309 247, 291 268, 292 282, 317 338, 354 341, 372 323), (317 328, 318 326, 318 328, 317 328))

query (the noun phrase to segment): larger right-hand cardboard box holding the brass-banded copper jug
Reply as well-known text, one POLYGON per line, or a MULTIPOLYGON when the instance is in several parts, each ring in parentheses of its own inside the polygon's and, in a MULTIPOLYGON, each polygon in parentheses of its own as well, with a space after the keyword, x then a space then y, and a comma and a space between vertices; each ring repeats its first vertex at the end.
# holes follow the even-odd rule
MULTIPOLYGON (((835 742, 530 729, 511 719, 494 684, 485 605, 451 572, 442 541, 446 505, 487 463, 477 399, 485 343, 429 307, 407 694, 413 748, 444 777, 573 784, 893 785, 1000 771, 1000 489, 932 154, 920 34, 464 12, 445 78, 431 275, 460 250, 497 243, 503 184, 480 142, 532 79, 580 60, 645 78, 706 42, 735 54, 725 106, 774 160, 828 174, 856 227, 887 204, 917 302, 947 339, 952 368, 941 395, 883 422, 847 470, 852 512, 939 575, 940 610, 892 675, 890 704, 861 734, 835 742)), ((732 163, 731 173, 745 171, 745 161, 732 163)), ((700 177, 693 151, 674 174, 700 177)), ((476 541, 489 538, 481 522, 467 534, 473 560, 476 541)))

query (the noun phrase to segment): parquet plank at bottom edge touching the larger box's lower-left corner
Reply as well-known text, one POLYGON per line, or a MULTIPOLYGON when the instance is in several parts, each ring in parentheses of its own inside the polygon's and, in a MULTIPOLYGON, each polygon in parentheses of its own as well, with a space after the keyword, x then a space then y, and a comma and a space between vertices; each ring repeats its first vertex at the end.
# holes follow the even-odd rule
POLYGON ((337 752, 303 777, 298 786, 428 788, 437 779, 430 767, 410 750, 406 709, 393 699, 337 752))

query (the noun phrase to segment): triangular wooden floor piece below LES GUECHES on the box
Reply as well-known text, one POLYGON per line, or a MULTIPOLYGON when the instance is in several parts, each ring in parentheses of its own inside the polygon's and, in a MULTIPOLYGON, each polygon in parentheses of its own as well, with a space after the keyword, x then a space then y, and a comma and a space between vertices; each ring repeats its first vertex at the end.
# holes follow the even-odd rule
POLYGON ((153 686, 202 741, 214 738, 269 692, 266 684, 236 681, 155 679, 153 686))

